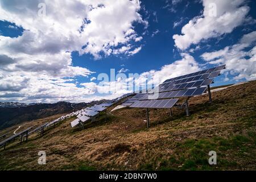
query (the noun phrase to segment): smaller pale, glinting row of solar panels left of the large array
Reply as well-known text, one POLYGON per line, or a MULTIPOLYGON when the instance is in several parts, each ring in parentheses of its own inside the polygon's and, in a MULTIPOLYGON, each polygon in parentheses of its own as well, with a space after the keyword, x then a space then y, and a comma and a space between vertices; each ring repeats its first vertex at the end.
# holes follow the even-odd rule
POLYGON ((92 119, 92 117, 96 117, 96 115, 98 115, 101 111, 106 110, 107 107, 112 105, 113 103, 94 105, 92 107, 87 107, 86 109, 77 111, 77 119, 71 122, 71 127, 75 127, 80 123, 85 123, 86 121, 89 121, 90 119, 92 119))

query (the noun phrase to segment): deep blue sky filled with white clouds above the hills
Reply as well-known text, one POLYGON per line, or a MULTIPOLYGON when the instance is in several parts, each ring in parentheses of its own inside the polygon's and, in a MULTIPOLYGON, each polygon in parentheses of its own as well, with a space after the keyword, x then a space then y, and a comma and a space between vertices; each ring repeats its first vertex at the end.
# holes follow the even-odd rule
POLYGON ((98 86, 93 77, 110 69, 142 74, 137 82, 158 76, 154 84, 220 64, 213 86, 256 78, 255 1, 0 2, 0 101, 127 93, 124 80, 98 86))

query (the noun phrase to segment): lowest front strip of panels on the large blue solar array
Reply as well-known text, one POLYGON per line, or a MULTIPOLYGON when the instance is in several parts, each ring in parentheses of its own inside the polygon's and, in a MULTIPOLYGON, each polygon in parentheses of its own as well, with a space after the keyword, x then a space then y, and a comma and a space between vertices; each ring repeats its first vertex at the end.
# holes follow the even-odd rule
POLYGON ((138 108, 171 108, 173 107, 177 99, 168 99, 168 100, 152 100, 152 101, 138 101, 135 102, 130 107, 138 108))

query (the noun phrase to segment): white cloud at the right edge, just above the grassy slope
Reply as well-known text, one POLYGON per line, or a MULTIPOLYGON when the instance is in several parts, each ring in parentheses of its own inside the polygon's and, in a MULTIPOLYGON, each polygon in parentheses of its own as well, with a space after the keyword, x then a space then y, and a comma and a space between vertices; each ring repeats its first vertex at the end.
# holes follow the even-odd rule
POLYGON ((209 64, 226 64, 226 70, 234 80, 256 80, 256 31, 243 35, 233 46, 214 52, 205 52, 201 57, 209 64))

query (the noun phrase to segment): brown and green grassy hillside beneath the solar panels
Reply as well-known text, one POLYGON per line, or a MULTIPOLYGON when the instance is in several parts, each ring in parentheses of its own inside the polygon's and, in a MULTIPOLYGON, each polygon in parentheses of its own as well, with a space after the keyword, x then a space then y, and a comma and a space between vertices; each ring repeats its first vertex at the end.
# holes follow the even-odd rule
POLYGON ((68 119, 41 138, 1 151, 0 169, 255 170, 256 81, 213 92, 212 97, 211 104, 207 95, 191 98, 189 117, 177 108, 172 117, 169 110, 151 109, 148 130, 145 109, 109 113, 113 106, 107 122, 101 115, 100 122, 88 123, 84 130, 71 129, 73 118, 68 119), (47 164, 40 166, 42 150, 47 164), (208 164, 212 150, 217 152, 215 166, 208 164))

